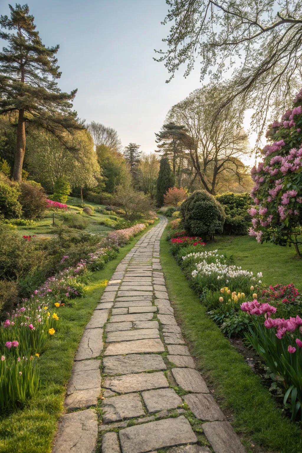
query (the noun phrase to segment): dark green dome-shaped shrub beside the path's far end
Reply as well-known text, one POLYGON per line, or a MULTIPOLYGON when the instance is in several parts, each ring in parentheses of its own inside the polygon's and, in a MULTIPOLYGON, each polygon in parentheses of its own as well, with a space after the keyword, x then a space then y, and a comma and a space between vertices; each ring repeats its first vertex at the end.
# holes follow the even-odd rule
POLYGON ((220 202, 205 190, 192 193, 180 208, 182 226, 187 233, 212 238, 223 232, 225 211, 220 202))

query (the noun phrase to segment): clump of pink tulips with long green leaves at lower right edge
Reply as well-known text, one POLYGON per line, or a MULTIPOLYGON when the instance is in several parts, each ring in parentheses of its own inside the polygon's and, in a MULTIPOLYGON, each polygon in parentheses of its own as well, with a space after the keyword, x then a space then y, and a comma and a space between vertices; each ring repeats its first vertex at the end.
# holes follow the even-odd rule
POLYGON ((292 419, 302 417, 302 318, 273 318, 277 308, 257 299, 240 305, 252 319, 245 337, 264 359, 273 378, 273 388, 283 396, 292 419))

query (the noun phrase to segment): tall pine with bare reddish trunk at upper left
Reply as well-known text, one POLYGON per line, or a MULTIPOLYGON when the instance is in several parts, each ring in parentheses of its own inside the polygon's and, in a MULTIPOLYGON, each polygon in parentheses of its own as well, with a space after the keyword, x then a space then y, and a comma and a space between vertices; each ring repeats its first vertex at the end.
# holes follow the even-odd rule
POLYGON ((0 53, 0 114, 15 112, 18 118, 13 177, 21 181, 25 123, 44 128, 61 141, 63 131, 83 129, 83 125, 71 110, 77 90, 63 93, 55 82, 61 76, 56 58, 59 46, 43 45, 28 5, 9 6, 10 18, 0 16, 0 38, 8 42, 0 53))

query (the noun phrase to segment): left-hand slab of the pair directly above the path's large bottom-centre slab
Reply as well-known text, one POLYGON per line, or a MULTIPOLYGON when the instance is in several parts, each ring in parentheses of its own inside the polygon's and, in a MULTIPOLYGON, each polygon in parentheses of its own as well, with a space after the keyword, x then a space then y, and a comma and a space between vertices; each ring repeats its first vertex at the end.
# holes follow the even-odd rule
POLYGON ((113 396, 102 400, 103 422, 111 423, 144 415, 144 408, 138 393, 113 396))

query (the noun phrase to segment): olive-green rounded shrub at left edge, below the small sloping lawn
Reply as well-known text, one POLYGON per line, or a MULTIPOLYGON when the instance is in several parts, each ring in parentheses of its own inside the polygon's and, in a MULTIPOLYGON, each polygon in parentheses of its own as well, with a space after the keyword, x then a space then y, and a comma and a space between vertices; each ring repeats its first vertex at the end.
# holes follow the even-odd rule
POLYGON ((33 275, 44 259, 34 239, 27 240, 0 223, 0 279, 18 280, 33 275))

